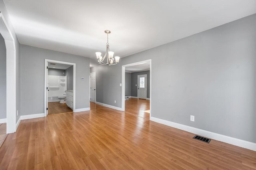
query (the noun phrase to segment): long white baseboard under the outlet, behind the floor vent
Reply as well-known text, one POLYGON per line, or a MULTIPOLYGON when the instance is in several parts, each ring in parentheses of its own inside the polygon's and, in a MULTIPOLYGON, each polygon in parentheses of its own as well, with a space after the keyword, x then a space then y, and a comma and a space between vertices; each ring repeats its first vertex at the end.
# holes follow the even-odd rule
POLYGON ((235 146, 239 146, 239 147, 242 147, 242 148, 247 148, 247 149, 256 151, 256 143, 248 142, 246 140, 241 140, 241 139, 233 138, 233 137, 230 137, 230 136, 225 136, 225 135, 222 135, 222 134, 209 132, 209 131, 202 130, 202 129, 199 129, 199 128, 194 128, 194 127, 182 125, 182 124, 179 124, 179 123, 174 123, 174 122, 171 122, 171 121, 166 121, 166 120, 163 120, 163 119, 158 119, 156 117, 150 117, 150 121, 154 121, 154 122, 157 122, 157 123, 161 123, 163 125, 167 125, 169 127, 178 128, 178 129, 181 129, 181 130, 185 130, 187 132, 191 132, 191 133, 194 133, 194 134, 205 136, 207 138, 212 138, 214 140, 218 140, 218 141, 221 141, 221 142, 225 142, 225 143, 228 143, 228 144, 232 144, 232 145, 235 145, 235 146))

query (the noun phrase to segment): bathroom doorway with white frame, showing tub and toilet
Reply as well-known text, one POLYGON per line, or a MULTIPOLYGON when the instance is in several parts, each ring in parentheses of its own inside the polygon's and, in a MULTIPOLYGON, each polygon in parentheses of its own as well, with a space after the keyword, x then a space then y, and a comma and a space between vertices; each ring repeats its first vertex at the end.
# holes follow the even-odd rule
POLYGON ((73 112, 75 64, 46 60, 46 115, 73 112))

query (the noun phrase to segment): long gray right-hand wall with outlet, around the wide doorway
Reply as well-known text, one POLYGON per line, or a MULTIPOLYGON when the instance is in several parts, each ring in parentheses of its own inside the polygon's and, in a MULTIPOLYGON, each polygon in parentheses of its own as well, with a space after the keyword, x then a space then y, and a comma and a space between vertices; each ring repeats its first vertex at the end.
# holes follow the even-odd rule
POLYGON ((256 143, 255 30, 256 14, 96 66, 96 99, 121 107, 122 65, 152 59, 153 117, 256 143))

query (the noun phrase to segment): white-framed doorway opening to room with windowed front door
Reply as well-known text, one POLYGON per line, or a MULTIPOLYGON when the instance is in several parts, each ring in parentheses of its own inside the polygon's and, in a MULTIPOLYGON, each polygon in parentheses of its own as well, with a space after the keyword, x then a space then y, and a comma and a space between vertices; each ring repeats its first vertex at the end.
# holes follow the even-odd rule
POLYGON ((151 59, 122 65, 122 111, 150 119, 151 59))

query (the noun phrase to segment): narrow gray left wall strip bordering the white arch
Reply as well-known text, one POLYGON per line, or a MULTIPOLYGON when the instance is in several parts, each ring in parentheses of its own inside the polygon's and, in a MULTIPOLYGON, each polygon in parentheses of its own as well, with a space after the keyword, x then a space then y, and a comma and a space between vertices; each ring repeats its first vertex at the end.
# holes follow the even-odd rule
MULTIPOLYGON (((10 20, 9 14, 4 5, 4 1, 0 0, 0 12, 4 16, 4 19, 9 26, 10 32, 14 38, 15 50, 16 50, 16 111, 20 111, 20 43, 12 27, 12 22, 10 20)), ((16 115, 16 122, 18 122, 20 114, 16 115)))

